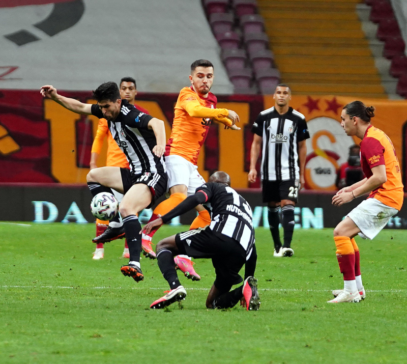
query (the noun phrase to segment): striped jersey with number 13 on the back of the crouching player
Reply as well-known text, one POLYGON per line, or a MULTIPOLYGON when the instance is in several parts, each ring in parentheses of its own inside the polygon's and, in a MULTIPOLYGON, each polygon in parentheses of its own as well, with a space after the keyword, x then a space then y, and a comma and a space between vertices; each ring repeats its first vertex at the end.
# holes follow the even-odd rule
POLYGON ((211 212, 209 228, 237 240, 251 254, 254 244, 252 210, 249 203, 233 188, 223 183, 210 182, 196 189, 206 195, 203 203, 211 212))

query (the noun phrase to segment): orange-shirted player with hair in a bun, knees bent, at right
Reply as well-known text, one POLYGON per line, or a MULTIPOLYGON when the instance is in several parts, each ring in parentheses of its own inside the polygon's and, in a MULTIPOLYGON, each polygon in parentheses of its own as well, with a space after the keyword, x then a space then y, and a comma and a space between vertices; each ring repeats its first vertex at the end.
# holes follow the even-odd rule
POLYGON ((366 178, 338 191, 332 204, 341 206, 367 192, 370 194, 334 230, 344 289, 332 291, 335 298, 329 303, 359 302, 365 298, 359 248, 354 237, 359 234, 365 239, 373 239, 403 204, 400 164, 390 138, 370 124, 374 110, 374 106, 366 107, 363 102, 354 101, 345 105, 341 114, 341 126, 346 134, 362 139, 360 155, 366 178))

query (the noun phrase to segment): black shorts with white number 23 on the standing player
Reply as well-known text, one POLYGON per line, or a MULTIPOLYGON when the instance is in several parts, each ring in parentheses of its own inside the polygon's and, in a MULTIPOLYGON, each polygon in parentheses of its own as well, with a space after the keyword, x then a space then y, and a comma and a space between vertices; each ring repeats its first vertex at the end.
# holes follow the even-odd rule
POLYGON ((263 202, 280 202, 290 200, 298 202, 300 183, 298 180, 267 181, 262 182, 263 202))

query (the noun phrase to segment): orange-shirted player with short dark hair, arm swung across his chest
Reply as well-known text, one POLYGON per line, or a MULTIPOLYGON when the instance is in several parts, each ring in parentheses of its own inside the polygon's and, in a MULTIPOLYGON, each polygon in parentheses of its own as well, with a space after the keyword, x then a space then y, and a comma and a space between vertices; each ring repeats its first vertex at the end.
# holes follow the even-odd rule
MULTIPOLYGON (((240 129, 235 125, 239 121, 235 111, 216 108, 217 98, 210 92, 213 78, 214 68, 210 61, 197 60, 192 63, 189 75, 191 86, 184 87, 178 96, 171 135, 165 150, 171 195, 156 207, 150 221, 172 210, 184 201, 187 195, 194 194, 195 189, 205 183, 197 171, 196 164, 212 120, 224 124, 225 128, 240 129)), ((205 227, 211 222, 208 211, 202 205, 196 210, 198 216, 192 222, 190 230, 205 227)), ((151 242, 155 231, 157 230, 153 230, 149 235, 143 234, 143 242, 151 242)), ((200 279, 189 257, 176 256, 175 261, 177 268, 188 278, 200 279)))

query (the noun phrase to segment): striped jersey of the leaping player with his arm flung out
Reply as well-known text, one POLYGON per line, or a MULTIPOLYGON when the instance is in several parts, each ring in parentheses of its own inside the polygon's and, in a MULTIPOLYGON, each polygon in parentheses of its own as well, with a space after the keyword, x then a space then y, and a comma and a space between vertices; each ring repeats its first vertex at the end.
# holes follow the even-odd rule
MULTIPOLYGON (((103 118, 97 104, 92 105, 92 114, 99 119, 103 118)), ((118 117, 107 122, 113 139, 126 155, 131 173, 165 173, 164 158, 152 152, 157 139, 154 131, 148 128, 151 119, 152 116, 143 113, 127 100, 122 100, 118 117)))

